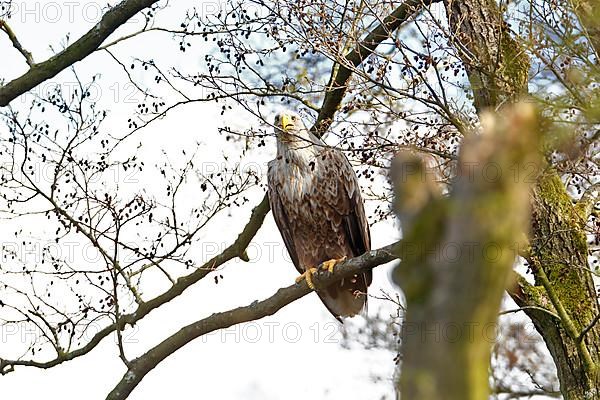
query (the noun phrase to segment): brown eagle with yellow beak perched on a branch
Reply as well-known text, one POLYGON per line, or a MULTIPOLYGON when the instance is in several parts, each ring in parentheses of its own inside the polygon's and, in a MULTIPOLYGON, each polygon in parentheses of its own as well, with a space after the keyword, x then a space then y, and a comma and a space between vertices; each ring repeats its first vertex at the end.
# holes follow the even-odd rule
MULTIPOLYGON (((318 268, 333 272, 346 258, 371 250, 358 178, 346 156, 311 133, 291 111, 275 116, 277 156, 268 163, 269 204, 294 266, 315 289, 318 268)), ((367 305, 368 271, 316 290, 333 316, 367 305)))

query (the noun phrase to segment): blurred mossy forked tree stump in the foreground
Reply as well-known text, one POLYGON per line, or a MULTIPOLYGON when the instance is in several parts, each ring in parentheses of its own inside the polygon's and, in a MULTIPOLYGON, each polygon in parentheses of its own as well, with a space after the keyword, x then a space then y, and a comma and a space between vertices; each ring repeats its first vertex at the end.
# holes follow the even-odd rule
MULTIPOLYGON (((457 180, 442 197, 406 156, 393 165, 396 211, 404 237, 394 280, 407 311, 402 328, 403 399, 481 400, 495 323, 516 257, 514 238, 528 225, 530 187, 523 177, 486 179, 485 168, 535 163, 532 105, 490 116, 485 135, 465 139, 457 180)), ((523 171, 520 171, 523 172, 523 171)))

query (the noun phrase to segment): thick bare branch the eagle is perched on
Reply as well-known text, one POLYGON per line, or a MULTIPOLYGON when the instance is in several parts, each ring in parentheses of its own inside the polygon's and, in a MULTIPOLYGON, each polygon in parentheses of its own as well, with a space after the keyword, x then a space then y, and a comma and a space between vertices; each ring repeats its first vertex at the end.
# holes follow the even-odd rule
MULTIPOLYGON (((395 259, 392 253, 396 245, 397 243, 390 244, 379 250, 373 250, 360 257, 352 258, 339 264, 333 274, 321 271, 316 276, 315 283, 317 287, 324 287, 341 278, 390 262, 395 259)), ((215 313, 181 328, 177 333, 169 336, 142 356, 131 361, 131 366, 106 399, 126 399, 148 372, 192 340, 218 329, 225 329, 236 324, 255 321, 273 315, 284 306, 310 292, 311 290, 306 281, 302 281, 301 283, 279 289, 274 295, 265 300, 254 301, 245 307, 215 313)))

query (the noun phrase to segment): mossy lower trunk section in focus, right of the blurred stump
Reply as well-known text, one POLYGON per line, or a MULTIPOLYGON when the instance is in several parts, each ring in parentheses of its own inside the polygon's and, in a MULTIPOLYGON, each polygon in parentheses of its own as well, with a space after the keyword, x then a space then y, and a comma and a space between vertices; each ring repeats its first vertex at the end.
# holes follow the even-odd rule
POLYGON ((510 293, 520 306, 546 308, 560 317, 525 309, 552 354, 565 400, 600 398, 600 324, 592 325, 600 310, 588 270, 585 221, 558 175, 545 172, 532 196, 527 257, 536 286, 520 280, 510 293))

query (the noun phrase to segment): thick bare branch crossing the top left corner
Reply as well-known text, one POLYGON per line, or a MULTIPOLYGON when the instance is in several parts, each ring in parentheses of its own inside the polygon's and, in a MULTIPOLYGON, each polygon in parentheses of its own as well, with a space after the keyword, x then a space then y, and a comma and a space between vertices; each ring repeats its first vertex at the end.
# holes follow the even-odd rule
POLYGON ((123 0, 107 11, 100 22, 75 43, 50 59, 34 64, 25 74, 0 87, 0 106, 8 105, 16 97, 83 60, 127 20, 157 2, 158 0, 123 0))

